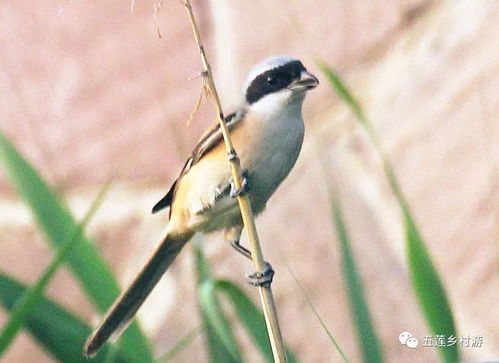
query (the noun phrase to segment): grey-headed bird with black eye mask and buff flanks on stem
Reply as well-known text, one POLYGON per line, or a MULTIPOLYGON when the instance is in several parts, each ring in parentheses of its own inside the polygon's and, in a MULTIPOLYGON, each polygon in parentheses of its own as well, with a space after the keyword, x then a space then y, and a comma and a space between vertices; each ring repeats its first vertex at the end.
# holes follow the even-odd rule
MULTIPOLYGON (((304 139, 302 105, 307 91, 319 81, 303 63, 290 56, 275 56, 254 66, 243 86, 235 111, 225 117, 232 143, 243 168, 243 185, 237 189, 220 125, 202 135, 179 177, 152 213, 170 208, 169 222, 160 242, 130 285, 90 335, 84 354, 93 357, 111 337, 118 337, 171 265, 182 247, 196 233, 224 230, 224 238, 238 252, 251 258, 239 243, 243 222, 237 196, 248 193, 254 214, 260 214, 277 187, 287 177, 304 139)), ((273 270, 250 275, 250 282, 266 286, 273 270)))

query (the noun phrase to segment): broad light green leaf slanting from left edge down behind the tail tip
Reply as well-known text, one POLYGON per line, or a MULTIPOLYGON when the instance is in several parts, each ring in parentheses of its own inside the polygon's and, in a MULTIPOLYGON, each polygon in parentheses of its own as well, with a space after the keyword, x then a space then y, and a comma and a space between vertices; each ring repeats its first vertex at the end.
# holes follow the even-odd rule
MULTIPOLYGON (((0 132, 0 162, 18 195, 31 207, 33 215, 54 248, 62 245, 76 222, 67 207, 37 171, 0 132)), ((105 312, 119 294, 119 285, 98 250, 88 239, 75 246, 67 261, 85 293, 100 312, 105 312)), ((152 352, 137 323, 122 336, 122 350, 136 362, 152 361, 152 352)))

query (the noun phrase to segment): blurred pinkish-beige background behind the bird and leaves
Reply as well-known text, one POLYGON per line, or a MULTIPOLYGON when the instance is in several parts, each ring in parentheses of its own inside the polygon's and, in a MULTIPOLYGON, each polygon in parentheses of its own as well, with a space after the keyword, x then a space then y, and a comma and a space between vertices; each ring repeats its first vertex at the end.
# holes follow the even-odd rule
MULTIPOLYGON (((353 253, 388 362, 438 361, 399 334, 431 335, 411 289, 401 215, 379 156, 316 61, 333 66, 374 123, 446 287, 465 361, 499 359, 499 2, 495 0, 194 1, 224 106, 255 63, 292 55, 321 80, 304 105, 297 165, 257 220, 286 342, 303 362, 341 358, 289 270, 352 362, 360 359, 341 275, 328 188, 339 193, 353 253)), ((0 5, 0 129, 81 217, 112 187, 88 228, 122 285, 167 223, 151 207, 213 120, 180 1, 7 1, 0 5), (161 6, 159 6, 161 4, 161 6), (158 10, 159 9, 159 10, 158 10)), ((0 269, 37 279, 53 251, 0 167, 0 269)), ((244 237, 243 244, 247 241, 244 237)), ((219 277, 249 262, 203 240, 219 277)), ((139 316, 158 354, 199 326, 193 254, 184 249, 139 316)), ((47 295, 83 320, 99 316, 62 269, 47 295)), ((0 309, 0 326, 7 321, 0 309)), ((239 332, 245 356, 260 356, 239 332)), ((26 333, 6 362, 51 362, 26 333)), ((201 338, 174 361, 206 361, 201 338)))

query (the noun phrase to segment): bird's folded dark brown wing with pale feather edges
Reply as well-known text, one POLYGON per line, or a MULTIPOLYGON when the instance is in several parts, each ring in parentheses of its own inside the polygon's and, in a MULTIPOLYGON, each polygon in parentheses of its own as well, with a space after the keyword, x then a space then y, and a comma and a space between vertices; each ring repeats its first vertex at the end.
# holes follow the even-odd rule
MULTIPOLYGON (((224 121, 229 128, 229 131, 232 131, 241 120, 243 120, 244 114, 239 113, 231 113, 227 117, 225 117, 224 121)), ((191 156, 187 159, 182 171, 180 172, 179 177, 175 180, 175 182, 170 187, 170 190, 166 195, 154 205, 152 208, 152 213, 156 213, 164 208, 169 207, 175 196, 175 191, 177 190, 178 183, 182 177, 189 172, 190 168, 197 164, 199 160, 201 160, 205 155, 207 155, 213 148, 215 148, 218 144, 223 141, 222 130, 220 129, 220 124, 217 122, 212 128, 208 129, 198 144, 192 151, 191 156)), ((171 214, 171 210, 170 210, 171 214)))

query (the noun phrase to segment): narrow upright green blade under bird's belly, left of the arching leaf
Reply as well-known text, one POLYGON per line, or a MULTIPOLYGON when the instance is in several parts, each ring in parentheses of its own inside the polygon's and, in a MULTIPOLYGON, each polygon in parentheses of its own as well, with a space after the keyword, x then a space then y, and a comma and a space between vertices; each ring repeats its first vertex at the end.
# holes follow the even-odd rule
MULTIPOLYGON (((220 309, 220 304, 218 300, 210 300, 209 302, 203 300, 202 297, 202 286, 204 283, 211 281, 211 274, 209 270, 208 261, 205 259, 203 255, 203 251, 201 249, 201 243, 199 239, 195 239, 193 241, 194 245, 194 253, 195 253, 195 266, 196 266, 196 275, 197 275, 197 286, 198 286, 198 304, 199 310, 201 313, 201 321, 204 327, 204 335, 206 338, 206 346, 208 349, 208 356, 211 363, 237 363, 241 362, 241 354, 239 353, 239 348, 237 346, 233 346, 228 348, 225 345, 225 342, 222 340, 221 335, 218 333, 216 327, 213 325, 212 320, 210 319, 210 315, 215 314, 215 311, 220 309), (205 306, 208 304, 208 307, 205 306), (206 309, 208 308, 208 311, 206 309)), ((218 319, 222 321, 224 318, 218 319)), ((224 324, 224 323, 222 323, 224 324)), ((226 336, 226 341, 235 341, 234 334, 230 329, 230 325, 223 325, 228 330, 223 333, 226 336), (227 338, 228 336, 228 338, 227 338)))

